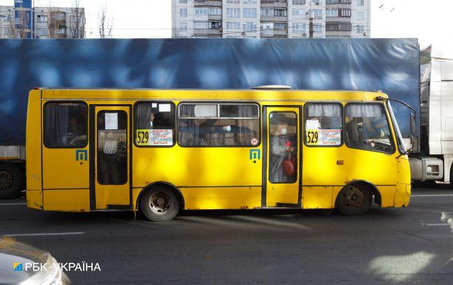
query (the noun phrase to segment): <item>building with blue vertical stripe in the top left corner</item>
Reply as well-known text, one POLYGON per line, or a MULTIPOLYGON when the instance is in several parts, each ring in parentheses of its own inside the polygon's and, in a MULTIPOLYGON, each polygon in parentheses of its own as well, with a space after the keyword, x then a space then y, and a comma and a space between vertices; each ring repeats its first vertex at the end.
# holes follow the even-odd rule
POLYGON ((85 38, 84 8, 0 6, 0 38, 85 38))

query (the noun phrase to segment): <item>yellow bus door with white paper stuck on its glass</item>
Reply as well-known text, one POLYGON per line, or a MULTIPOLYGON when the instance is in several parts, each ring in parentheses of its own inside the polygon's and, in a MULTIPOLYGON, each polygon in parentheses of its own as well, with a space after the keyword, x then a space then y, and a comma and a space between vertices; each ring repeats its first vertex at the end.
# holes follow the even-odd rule
POLYGON ((90 106, 91 209, 130 209, 130 106, 90 106))

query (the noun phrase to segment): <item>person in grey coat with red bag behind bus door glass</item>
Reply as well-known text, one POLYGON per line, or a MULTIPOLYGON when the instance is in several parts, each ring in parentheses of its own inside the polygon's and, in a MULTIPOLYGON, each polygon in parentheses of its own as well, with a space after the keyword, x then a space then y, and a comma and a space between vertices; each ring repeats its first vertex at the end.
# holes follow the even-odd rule
POLYGON ((283 114, 275 114, 271 117, 277 122, 277 129, 270 139, 270 181, 272 183, 286 183, 294 180, 294 175, 286 174, 283 162, 294 152, 293 142, 289 138, 288 126, 290 119, 283 114))

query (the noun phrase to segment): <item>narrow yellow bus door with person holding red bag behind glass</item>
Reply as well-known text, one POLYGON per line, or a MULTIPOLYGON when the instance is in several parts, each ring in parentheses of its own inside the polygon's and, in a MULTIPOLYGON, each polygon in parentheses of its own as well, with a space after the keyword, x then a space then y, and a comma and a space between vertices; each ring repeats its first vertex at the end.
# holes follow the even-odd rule
POLYGON ((300 206, 300 109, 264 107, 263 206, 300 206))

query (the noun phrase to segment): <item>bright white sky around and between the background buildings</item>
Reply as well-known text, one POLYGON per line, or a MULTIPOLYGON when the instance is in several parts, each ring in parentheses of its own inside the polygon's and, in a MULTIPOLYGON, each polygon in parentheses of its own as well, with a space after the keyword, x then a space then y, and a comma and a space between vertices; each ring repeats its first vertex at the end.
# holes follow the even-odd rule
MULTIPOLYGON (((0 0, 0 5, 13 1, 0 0)), ((86 10, 87 38, 99 37, 102 5, 112 19, 114 38, 171 38, 171 0, 79 1, 86 10)), ((35 6, 49 5, 70 7, 72 0, 35 0, 35 6)), ((371 0, 371 38, 418 38, 420 47, 427 47, 453 38, 452 10, 452 0, 371 0)))

